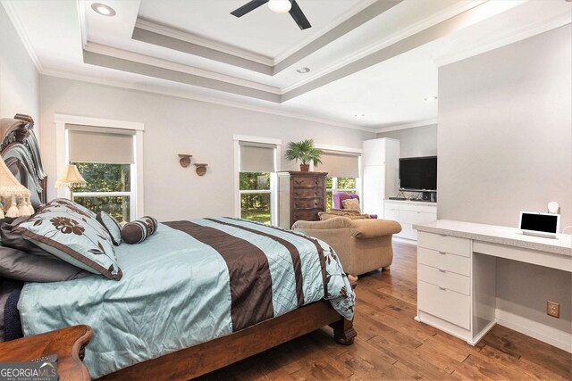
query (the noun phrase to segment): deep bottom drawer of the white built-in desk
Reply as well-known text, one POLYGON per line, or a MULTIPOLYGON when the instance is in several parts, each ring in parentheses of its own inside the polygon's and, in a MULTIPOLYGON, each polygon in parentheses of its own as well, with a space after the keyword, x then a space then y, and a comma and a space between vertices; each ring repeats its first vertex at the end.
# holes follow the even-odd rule
POLYGON ((442 289, 420 280, 417 284, 417 307, 458 327, 471 327, 471 297, 442 289))

